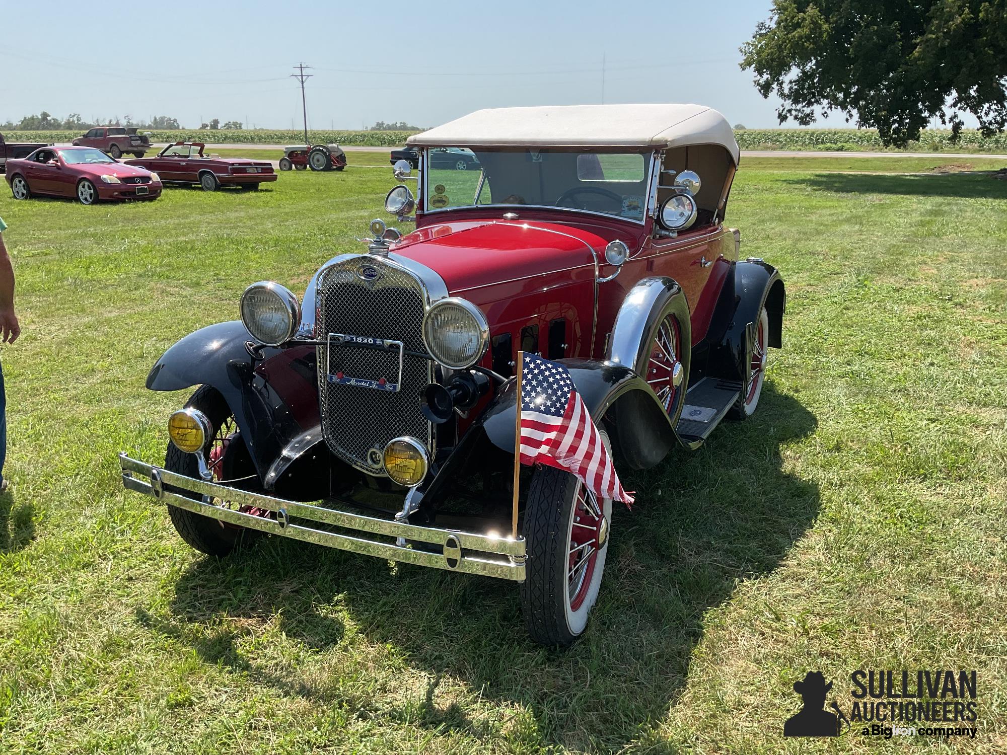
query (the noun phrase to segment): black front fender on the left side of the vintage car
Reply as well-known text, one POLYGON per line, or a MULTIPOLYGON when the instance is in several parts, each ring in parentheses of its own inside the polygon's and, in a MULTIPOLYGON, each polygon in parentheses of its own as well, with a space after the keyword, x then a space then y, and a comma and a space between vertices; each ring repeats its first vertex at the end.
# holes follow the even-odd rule
POLYGON ((261 350, 251 345, 237 320, 196 330, 157 360, 147 388, 217 389, 235 415, 260 479, 272 486, 283 471, 275 465, 278 459, 312 445, 313 433, 320 439, 317 357, 309 345, 261 350))

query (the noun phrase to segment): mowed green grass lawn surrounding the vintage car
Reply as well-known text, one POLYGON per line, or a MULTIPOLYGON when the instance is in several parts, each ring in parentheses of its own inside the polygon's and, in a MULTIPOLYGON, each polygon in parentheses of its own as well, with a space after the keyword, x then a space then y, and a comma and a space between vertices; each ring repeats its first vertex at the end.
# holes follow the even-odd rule
POLYGON ((938 749, 1007 748, 1007 182, 742 164, 728 219, 786 279, 783 349, 752 420, 628 476, 560 652, 508 584, 280 539, 218 561, 121 487, 116 454, 163 458, 187 396, 144 388, 166 347, 363 250, 393 180, 349 157, 258 193, 0 193, 24 329, 0 348, 0 751, 932 751, 781 738, 794 682, 821 670, 849 715, 857 668, 976 669, 978 736, 938 749))

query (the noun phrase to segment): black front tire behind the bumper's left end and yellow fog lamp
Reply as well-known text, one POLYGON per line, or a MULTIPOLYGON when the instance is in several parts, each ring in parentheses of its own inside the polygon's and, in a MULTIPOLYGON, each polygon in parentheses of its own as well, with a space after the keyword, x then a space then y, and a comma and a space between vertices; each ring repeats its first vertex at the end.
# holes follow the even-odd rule
MULTIPOLYGON (((229 420, 233 422, 233 415, 228 402, 225 401, 219 391, 209 386, 202 386, 192 394, 185 406, 198 409, 206 415, 206 418, 213 427, 214 437, 222 431, 222 427, 225 427, 225 423, 229 420)), ((203 454, 209 453, 211 444, 212 441, 206 444, 207 447, 203 449, 203 454)), ((199 466, 195 456, 180 451, 170 441, 168 442, 168 450, 164 455, 164 468, 170 472, 184 474, 187 477, 199 478, 199 466)), ((240 472, 254 474, 255 469, 252 468, 249 471, 243 468, 240 472)), ((242 474, 239 473, 235 476, 242 476, 242 474)), ((167 489, 171 492, 182 492, 177 488, 168 487, 167 489)), ((183 494, 191 495, 191 493, 183 494)), ((246 530, 234 526, 233 524, 226 524, 209 516, 202 516, 194 511, 189 511, 187 508, 179 508, 170 504, 168 505, 168 515, 171 517, 171 523, 175 526, 175 532, 178 533, 181 539, 196 551, 208 556, 227 556, 239 546, 248 544, 253 538, 260 535, 257 530, 246 530)))

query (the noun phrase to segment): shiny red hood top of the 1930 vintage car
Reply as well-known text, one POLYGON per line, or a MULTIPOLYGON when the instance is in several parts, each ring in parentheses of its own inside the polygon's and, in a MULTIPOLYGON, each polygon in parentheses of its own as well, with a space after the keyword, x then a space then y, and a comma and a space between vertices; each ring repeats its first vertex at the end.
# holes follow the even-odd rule
MULTIPOLYGON (((392 252, 437 272, 452 295, 480 298, 471 292, 502 282, 593 268, 604 247, 604 239, 584 229, 484 220, 425 225, 404 236, 392 252)), ((550 283, 543 281, 543 285, 550 283)))

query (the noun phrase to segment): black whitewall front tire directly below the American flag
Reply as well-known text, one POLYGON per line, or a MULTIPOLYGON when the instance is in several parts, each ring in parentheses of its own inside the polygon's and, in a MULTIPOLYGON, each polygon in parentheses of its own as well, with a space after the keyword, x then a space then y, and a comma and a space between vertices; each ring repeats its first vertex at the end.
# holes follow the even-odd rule
MULTIPOLYGON (((602 434, 602 438, 608 447, 607 436, 602 434)), ((601 547, 596 550, 594 561, 582 567, 586 572, 582 581, 571 579, 578 574, 576 569, 571 572, 570 564, 578 558, 571 552, 574 517, 583 516, 587 510, 579 503, 582 487, 580 480, 569 472, 540 466, 532 475, 525 504, 528 559, 525 582, 521 586, 522 613, 532 639, 550 647, 570 645, 584 633, 604 574, 610 540, 607 534, 611 523, 611 500, 595 501, 605 522, 599 530, 601 535, 593 536, 595 544, 602 541, 601 547), (575 590, 573 595, 571 589, 575 590), (581 591, 586 592, 582 594, 581 591)), ((594 501, 594 496, 590 499, 594 501)), ((585 558, 590 559, 590 554, 585 558)))

